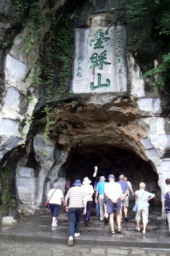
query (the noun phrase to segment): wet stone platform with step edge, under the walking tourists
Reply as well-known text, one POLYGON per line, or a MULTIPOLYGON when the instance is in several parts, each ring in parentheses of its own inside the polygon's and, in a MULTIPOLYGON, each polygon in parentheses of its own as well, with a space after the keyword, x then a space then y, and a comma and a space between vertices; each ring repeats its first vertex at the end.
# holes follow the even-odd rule
MULTIPOLYGON (((74 239, 74 244, 170 249, 169 228, 164 224, 165 219, 161 219, 161 208, 150 207, 146 234, 143 234, 142 230, 136 231, 135 214, 131 209, 129 207, 129 221, 122 222, 122 232, 116 231, 114 235, 111 234, 110 224, 100 222, 93 209, 88 227, 85 227, 82 221, 80 236, 74 239)), ((0 239, 68 244, 68 218, 65 207, 60 208, 57 227, 51 227, 52 217, 46 209, 39 215, 22 216, 18 220, 17 226, 0 227, 0 239)))

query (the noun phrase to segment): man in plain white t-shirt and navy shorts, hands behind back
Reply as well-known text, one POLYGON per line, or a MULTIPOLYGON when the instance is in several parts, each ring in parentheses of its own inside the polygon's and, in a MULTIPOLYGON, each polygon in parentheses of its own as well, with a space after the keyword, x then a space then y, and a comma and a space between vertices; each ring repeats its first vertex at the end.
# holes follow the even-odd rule
POLYGON ((108 198, 107 213, 110 214, 111 233, 115 234, 114 230, 114 212, 116 212, 116 221, 118 225, 118 232, 121 232, 121 218, 120 218, 120 197, 122 195, 122 187, 119 183, 114 181, 114 175, 109 175, 109 183, 105 184, 105 196, 108 198))

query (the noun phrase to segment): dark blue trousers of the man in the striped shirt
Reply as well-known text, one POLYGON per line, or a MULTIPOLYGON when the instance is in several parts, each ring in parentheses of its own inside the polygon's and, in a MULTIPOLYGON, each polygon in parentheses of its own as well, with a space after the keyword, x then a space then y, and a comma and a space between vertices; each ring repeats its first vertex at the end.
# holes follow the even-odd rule
POLYGON ((80 226, 82 211, 83 211, 83 208, 68 209, 69 236, 74 237, 74 233, 79 233, 79 226, 80 226))

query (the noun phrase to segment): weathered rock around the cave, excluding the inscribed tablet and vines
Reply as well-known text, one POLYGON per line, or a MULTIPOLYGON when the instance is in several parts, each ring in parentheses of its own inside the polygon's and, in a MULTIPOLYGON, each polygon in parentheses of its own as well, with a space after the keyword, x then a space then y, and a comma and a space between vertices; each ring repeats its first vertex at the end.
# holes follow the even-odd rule
MULTIPOLYGON (((15 197, 23 204, 19 207, 20 212, 33 213, 39 209, 54 181, 64 192, 66 176, 71 177, 72 181, 83 179, 86 175, 91 179, 95 165, 98 166, 99 175, 113 173, 118 178, 122 173, 127 174, 134 190, 138 189, 139 182, 145 182, 147 190, 156 192, 157 204, 163 200, 164 180, 170 176, 167 95, 163 91, 153 92, 153 84, 140 78, 150 63, 156 59, 159 61, 158 43, 152 34, 154 13, 149 20, 134 26, 125 15, 126 3, 124 0, 85 0, 81 4, 77 2, 77 5, 73 3, 72 9, 66 8, 66 1, 57 1, 48 6, 44 3, 44 13, 50 10, 57 17, 61 16, 61 20, 68 15, 73 38, 76 28, 116 29, 115 20, 120 27, 126 26, 127 54, 127 90, 109 93, 98 93, 97 89, 83 93, 82 90, 70 96, 71 79, 71 83, 68 81, 65 84, 65 93, 59 98, 56 75, 59 67, 56 64, 52 111, 49 115, 55 123, 50 127, 47 145, 44 134, 44 87, 37 89, 29 85, 29 76, 34 72, 32 53, 20 52, 23 41, 17 36, 17 24, 14 23, 12 31, 16 37, 8 50, 3 51, 4 68, 1 66, 0 72, 4 78, 0 81, 3 84, 0 159, 1 172, 4 168, 14 169, 15 197), (109 12, 112 8, 115 9, 114 13, 109 12), (139 41, 134 43, 133 38, 138 36, 139 41), (30 95, 34 98, 32 104, 28 100, 30 95), (71 106, 72 100, 78 104, 71 106), (30 121, 30 114, 26 114, 28 111, 33 113, 34 122, 31 126, 28 122, 24 126, 24 121, 30 121), (22 130, 27 136, 23 137, 22 130), (25 148, 19 146, 23 142, 26 143, 25 148), (44 156, 44 149, 48 157, 44 156)), ((5 5, 5 1, 2 5, 5 5)), ((5 10, 3 12, 8 15, 5 10)), ((7 26, 6 20, 3 26, 7 26)), ((50 24, 44 27, 44 34, 49 28, 50 24)), ((6 35, 7 30, 1 37, 6 35)), ((21 35, 26 33, 25 27, 21 35)), ((35 47, 38 48, 38 42, 35 47)), ((73 42, 75 47, 76 41, 73 42)), ((116 56, 116 52, 110 51, 108 54, 113 54, 113 58, 116 56)))

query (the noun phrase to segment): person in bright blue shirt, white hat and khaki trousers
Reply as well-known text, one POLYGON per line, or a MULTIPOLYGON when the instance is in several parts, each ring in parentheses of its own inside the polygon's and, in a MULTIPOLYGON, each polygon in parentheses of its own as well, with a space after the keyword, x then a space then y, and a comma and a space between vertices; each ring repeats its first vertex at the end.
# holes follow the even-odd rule
POLYGON ((100 183, 97 184, 96 186, 96 195, 95 195, 95 202, 97 204, 97 196, 99 194, 99 207, 100 207, 100 221, 103 221, 105 218, 105 224, 108 223, 108 213, 107 213, 107 204, 104 202, 104 190, 105 190, 105 177, 101 176, 100 177, 100 183))

